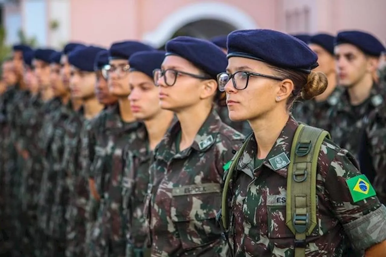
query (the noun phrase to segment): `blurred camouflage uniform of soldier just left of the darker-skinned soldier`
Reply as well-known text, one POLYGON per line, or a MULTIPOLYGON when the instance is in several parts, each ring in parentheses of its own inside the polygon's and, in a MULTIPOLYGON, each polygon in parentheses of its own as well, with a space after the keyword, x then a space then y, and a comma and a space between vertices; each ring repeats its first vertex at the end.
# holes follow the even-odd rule
MULTIPOLYGON (((98 116, 97 116, 98 117, 98 116)), ((85 256, 88 190, 88 131, 95 119, 74 116, 67 127, 63 167, 67 171, 69 203, 66 210, 66 257, 85 256)))

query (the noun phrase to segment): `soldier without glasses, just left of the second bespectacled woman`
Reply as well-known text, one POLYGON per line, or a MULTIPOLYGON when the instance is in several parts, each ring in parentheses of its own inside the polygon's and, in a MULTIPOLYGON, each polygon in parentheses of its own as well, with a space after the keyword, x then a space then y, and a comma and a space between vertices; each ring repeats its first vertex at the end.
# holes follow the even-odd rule
POLYGON ((128 144, 124 155, 122 195, 126 257, 150 256, 147 242, 144 199, 149 184, 149 167, 154 160, 154 149, 169 128, 174 114, 159 106, 158 89, 154 85, 153 71, 161 67, 164 51, 147 51, 133 54, 130 59, 130 107, 134 117, 144 122, 142 131, 128 144))

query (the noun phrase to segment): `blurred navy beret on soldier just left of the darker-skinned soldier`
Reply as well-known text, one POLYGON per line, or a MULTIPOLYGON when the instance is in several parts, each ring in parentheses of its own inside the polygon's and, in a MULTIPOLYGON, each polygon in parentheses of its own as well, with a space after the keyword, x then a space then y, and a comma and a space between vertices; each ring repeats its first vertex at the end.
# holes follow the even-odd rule
POLYGON ((95 57, 102 50, 104 49, 93 45, 78 47, 68 54, 68 62, 81 71, 94 71, 95 57))

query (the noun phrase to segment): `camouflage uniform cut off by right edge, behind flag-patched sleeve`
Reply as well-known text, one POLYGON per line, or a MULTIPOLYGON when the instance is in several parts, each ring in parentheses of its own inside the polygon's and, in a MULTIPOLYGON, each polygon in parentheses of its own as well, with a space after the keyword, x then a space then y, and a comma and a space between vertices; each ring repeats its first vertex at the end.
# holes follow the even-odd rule
POLYGON ((365 118, 359 149, 361 170, 374 185, 379 200, 386 204, 386 105, 365 118))

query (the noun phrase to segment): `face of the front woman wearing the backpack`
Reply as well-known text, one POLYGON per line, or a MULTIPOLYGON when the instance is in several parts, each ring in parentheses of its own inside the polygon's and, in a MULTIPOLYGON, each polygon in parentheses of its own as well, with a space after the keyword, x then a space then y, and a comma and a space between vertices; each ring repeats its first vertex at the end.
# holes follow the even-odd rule
MULTIPOLYGON (((229 58, 227 73, 235 74, 239 71, 276 77, 273 69, 264 62, 243 57, 229 58)), ((239 78, 240 83, 246 80, 246 77, 239 78)), ((273 111, 278 106, 276 96, 280 91, 280 84, 279 79, 251 75, 247 86, 238 90, 235 89, 233 81, 230 79, 225 86, 229 118, 232 121, 252 120, 273 111)), ((282 102, 283 108, 285 108, 285 101, 282 102)))

